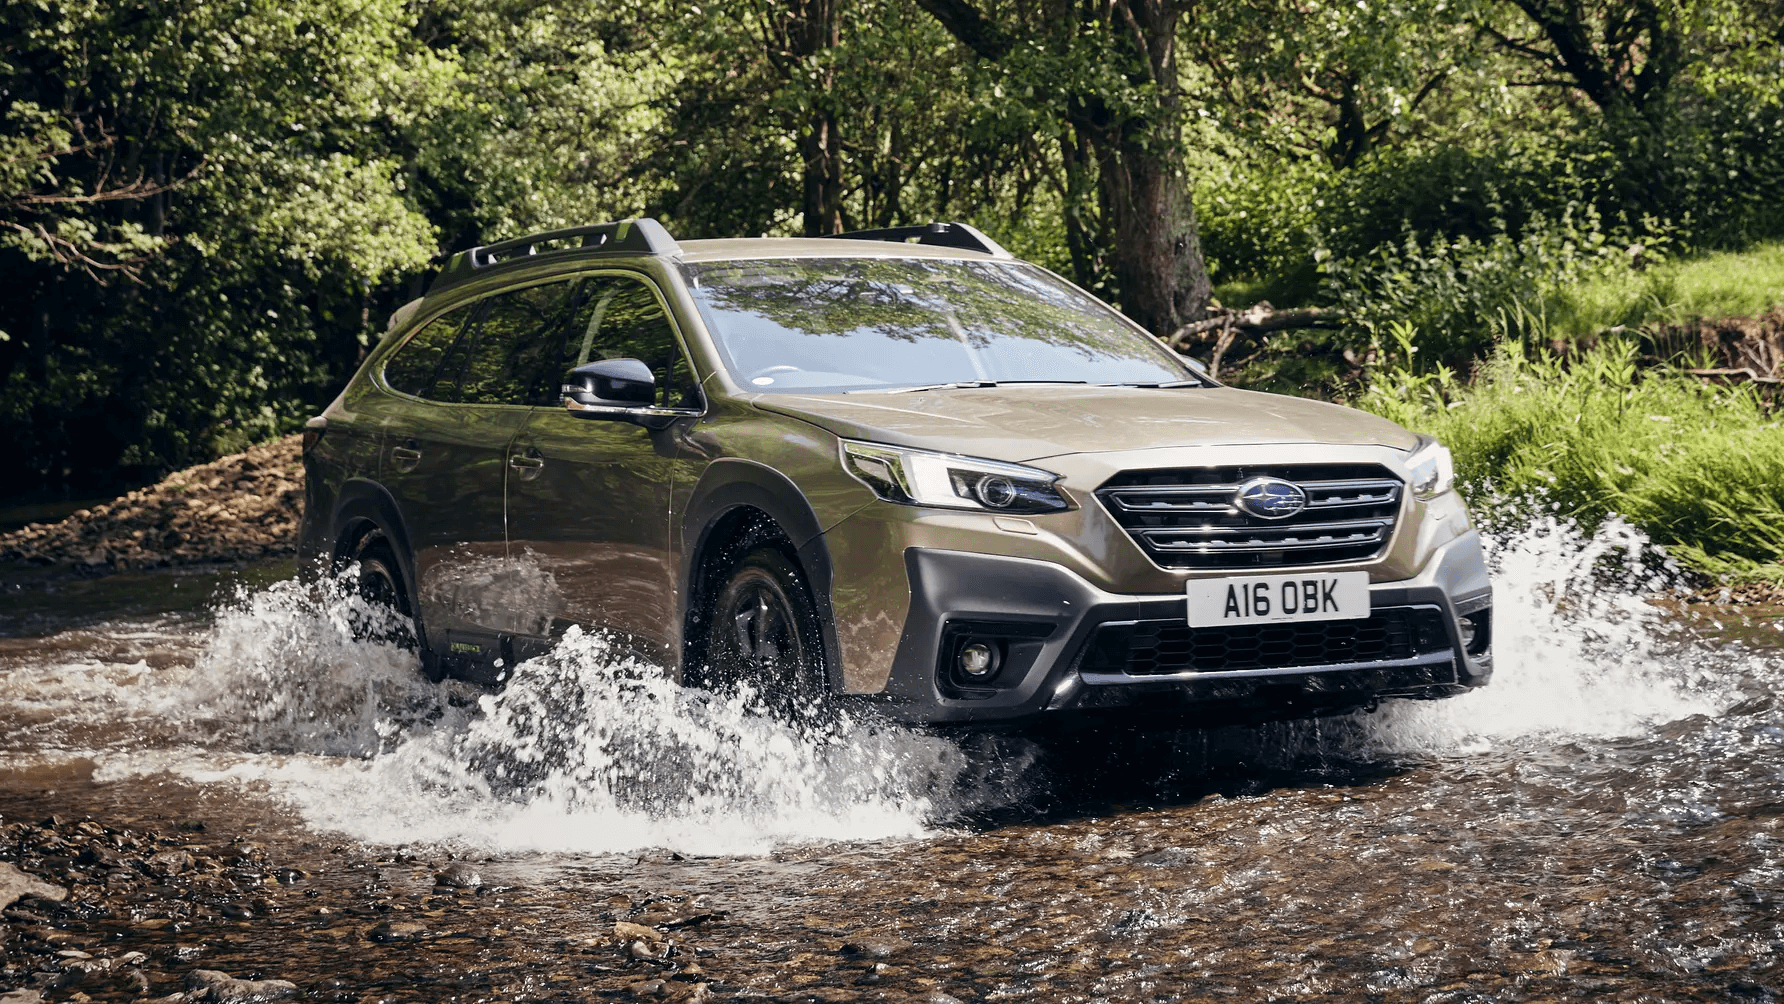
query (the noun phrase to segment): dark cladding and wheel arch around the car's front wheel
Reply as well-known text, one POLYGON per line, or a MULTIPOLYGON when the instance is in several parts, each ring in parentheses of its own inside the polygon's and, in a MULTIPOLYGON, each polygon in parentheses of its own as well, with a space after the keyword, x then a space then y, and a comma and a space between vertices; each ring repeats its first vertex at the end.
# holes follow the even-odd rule
POLYGON ((681 549, 681 669, 703 656, 705 613, 712 581, 728 555, 740 547, 780 540, 805 576, 824 649, 824 676, 840 694, 842 658, 837 646, 830 547, 822 524, 785 474, 751 460, 717 460, 706 467, 689 498, 681 549))

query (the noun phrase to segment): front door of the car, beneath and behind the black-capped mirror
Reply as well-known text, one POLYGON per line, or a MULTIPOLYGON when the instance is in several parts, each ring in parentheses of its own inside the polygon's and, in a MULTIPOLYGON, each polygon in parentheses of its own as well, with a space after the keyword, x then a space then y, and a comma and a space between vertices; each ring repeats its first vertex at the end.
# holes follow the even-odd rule
MULTIPOLYGON (((615 631, 649 658, 665 658, 676 567, 669 544, 674 428, 651 432, 585 419, 562 407, 562 378, 599 358, 640 358, 657 376, 657 403, 699 414, 699 389, 658 291, 640 275, 585 276, 571 296, 549 382, 510 448, 508 544, 546 571, 562 597, 553 628, 615 631)), ((553 631, 535 635, 535 647, 553 631)))

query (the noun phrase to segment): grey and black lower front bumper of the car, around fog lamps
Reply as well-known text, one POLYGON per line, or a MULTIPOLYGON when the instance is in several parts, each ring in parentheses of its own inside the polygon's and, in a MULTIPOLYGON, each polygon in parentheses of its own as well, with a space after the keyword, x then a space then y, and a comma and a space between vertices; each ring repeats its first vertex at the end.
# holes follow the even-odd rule
MULTIPOLYGON (((1374 631, 1370 644, 1347 630, 1326 662, 1309 658, 1318 638, 1302 631, 1290 640, 1301 656, 1272 662, 1252 651, 1235 660, 1240 669, 1215 671, 1151 660, 1133 672, 1126 653, 1149 638, 1172 633, 1177 651, 1190 642, 1183 596, 1111 594, 1035 558, 908 547, 904 565, 910 613, 885 692, 871 697, 899 720, 1019 726, 1117 713, 1183 724, 1268 720, 1383 697, 1447 697, 1491 676, 1484 633, 1491 585, 1474 530, 1441 546, 1418 576, 1370 587, 1372 619, 1350 622, 1374 631), (1479 626, 1468 646, 1463 615, 1479 626), (1003 653, 988 685, 951 672, 954 651, 969 640, 1003 653)), ((1317 630, 1318 622, 1309 631, 1317 630)))

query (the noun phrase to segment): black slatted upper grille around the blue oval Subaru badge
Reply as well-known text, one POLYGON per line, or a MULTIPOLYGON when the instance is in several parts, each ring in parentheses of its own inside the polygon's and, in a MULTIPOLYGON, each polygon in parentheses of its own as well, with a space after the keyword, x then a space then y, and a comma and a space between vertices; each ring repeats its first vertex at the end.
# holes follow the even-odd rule
POLYGON ((1393 537, 1402 483, 1375 464, 1124 471, 1097 489, 1103 508, 1160 565, 1254 569, 1374 558, 1393 537), (1263 519, 1233 499, 1252 478, 1301 485, 1308 506, 1263 519))

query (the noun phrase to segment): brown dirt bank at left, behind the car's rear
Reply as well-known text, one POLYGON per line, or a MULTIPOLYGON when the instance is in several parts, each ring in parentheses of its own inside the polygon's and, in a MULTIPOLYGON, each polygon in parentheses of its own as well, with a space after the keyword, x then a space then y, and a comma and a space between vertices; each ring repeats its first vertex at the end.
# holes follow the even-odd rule
POLYGON ((87 571, 294 555, 303 515, 300 437, 200 464, 61 523, 0 535, 0 562, 87 571))

